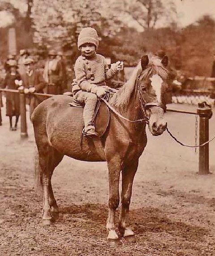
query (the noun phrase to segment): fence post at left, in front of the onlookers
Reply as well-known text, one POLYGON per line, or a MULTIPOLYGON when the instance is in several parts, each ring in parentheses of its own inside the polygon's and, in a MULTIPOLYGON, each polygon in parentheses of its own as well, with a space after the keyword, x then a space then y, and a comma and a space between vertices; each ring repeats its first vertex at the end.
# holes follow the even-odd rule
POLYGON ((21 138, 27 138, 27 122, 26 122, 26 95, 24 88, 19 88, 20 96, 20 114, 21 114, 21 138))

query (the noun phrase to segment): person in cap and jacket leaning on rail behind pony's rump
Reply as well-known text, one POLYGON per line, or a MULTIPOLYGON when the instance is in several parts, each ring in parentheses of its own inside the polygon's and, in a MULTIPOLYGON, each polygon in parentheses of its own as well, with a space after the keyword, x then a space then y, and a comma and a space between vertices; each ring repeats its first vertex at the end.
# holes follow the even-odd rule
POLYGON ((33 95, 33 93, 43 93, 43 89, 46 86, 46 82, 43 79, 43 75, 40 71, 34 67, 34 60, 32 57, 28 57, 24 61, 26 72, 21 75, 22 85, 24 92, 29 94, 29 105, 30 105, 30 117, 36 106, 39 105, 44 99, 43 96, 33 95))

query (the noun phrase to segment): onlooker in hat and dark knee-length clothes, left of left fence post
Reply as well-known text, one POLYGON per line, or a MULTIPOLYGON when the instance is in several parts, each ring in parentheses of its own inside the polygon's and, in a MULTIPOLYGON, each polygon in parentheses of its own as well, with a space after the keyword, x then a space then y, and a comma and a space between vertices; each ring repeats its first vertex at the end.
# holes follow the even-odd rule
MULTIPOLYGON (((4 81, 1 84, 1 88, 7 89, 17 89, 19 84, 17 81, 21 80, 21 76, 18 73, 17 69, 17 61, 10 59, 8 62, 10 67, 10 71, 6 74, 4 81)), ((6 116, 9 116, 10 121, 10 130, 16 131, 17 130, 17 123, 19 120, 20 115, 20 100, 19 100, 19 93, 13 92, 6 92, 6 116), (12 117, 16 117, 15 125, 13 127, 12 124, 12 117)))

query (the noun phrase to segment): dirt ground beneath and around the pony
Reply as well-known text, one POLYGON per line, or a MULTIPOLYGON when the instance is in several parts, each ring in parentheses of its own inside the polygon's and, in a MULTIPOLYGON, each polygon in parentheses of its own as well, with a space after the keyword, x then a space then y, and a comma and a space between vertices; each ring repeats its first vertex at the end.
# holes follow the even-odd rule
MULTIPOLYGON (((176 107, 176 106, 169 106, 176 107)), ((177 108, 192 109, 192 106, 177 108)), ((167 132, 152 137, 133 185, 130 223, 136 243, 107 242, 106 163, 64 157, 53 177, 60 218, 41 225, 41 196, 34 194, 34 135, 9 131, 2 109, 0 127, 0 255, 2 256, 213 256, 215 255, 215 175, 199 176, 198 152, 180 146, 167 132)), ((28 113, 27 113, 28 114, 28 113)), ((195 116, 167 113, 169 129, 194 144, 195 116)), ((210 137, 215 134, 215 117, 210 137)), ((210 170, 215 171, 215 141, 210 170)), ((118 212, 117 218, 118 221, 118 212)))

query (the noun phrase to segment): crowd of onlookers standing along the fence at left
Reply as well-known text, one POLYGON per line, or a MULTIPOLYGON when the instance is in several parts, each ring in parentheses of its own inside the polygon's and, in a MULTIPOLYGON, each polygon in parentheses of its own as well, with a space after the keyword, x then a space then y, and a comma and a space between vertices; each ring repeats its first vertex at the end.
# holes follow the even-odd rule
MULTIPOLYGON (((48 56, 39 50, 31 55, 26 49, 21 49, 19 56, 9 54, 1 72, 0 88, 18 89, 21 85, 28 95, 30 115, 44 97, 33 96, 32 93, 63 94, 67 91, 66 63, 62 52, 49 50, 48 56)), ((71 84, 71 83, 70 83, 71 84)), ((10 130, 17 130, 20 115, 19 94, 6 92, 6 115, 9 116, 10 130), (12 117, 15 117, 13 126, 12 117)), ((0 95, 0 107, 3 106, 0 95)), ((0 112, 0 125, 2 123, 0 112)))

